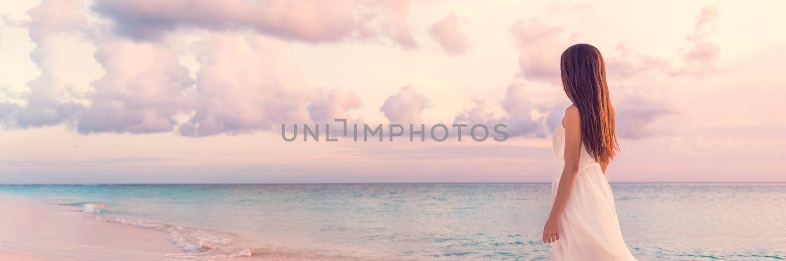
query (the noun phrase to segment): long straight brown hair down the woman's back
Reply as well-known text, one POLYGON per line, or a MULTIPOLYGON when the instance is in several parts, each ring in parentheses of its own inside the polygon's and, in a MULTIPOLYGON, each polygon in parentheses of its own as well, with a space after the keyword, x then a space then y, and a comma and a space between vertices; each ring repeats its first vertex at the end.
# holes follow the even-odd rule
POLYGON ((560 70, 565 94, 578 107, 584 147, 595 161, 608 164, 619 143, 601 51, 588 44, 568 47, 560 58, 560 70))

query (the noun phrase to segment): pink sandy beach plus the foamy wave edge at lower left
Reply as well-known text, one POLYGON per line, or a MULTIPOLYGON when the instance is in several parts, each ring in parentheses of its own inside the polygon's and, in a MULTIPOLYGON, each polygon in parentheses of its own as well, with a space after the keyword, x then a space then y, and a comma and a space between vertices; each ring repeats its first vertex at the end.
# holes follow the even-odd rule
MULTIPOLYGON (((231 233, 181 227, 136 219, 97 216, 101 207, 42 201, 24 195, 0 193, 0 260, 15 261, 204 261, 232 260, 359 260, 318 252, 251 250, 222 242, 193 245, 171 237, 189 230, 242 241, 231 233), (200 248, 192 252, 184 249, 200 248), (230 248, 230 252, 226 252, 230 248), (223 252, 203 252, 202 250, 223 252), (240 258, 240 259, 238 259, 240 258)), ((187 235, 186 235, 187 237, 187 235)), ((197 240, 198 241, 198 240, 197 240)))

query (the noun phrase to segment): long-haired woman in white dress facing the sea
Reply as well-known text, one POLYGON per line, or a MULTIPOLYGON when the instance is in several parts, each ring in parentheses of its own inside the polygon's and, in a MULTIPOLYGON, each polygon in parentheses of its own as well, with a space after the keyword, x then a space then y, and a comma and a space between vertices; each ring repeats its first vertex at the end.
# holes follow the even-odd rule
POLYGON ((619 230, 606 167, 619 150, 606 68, 593 45, 569 47, 560 59, 562 85, 573 102, 553 135, 562 172, 552 182, 553 206, 543 241, 553 260, 635 260, 619 230))

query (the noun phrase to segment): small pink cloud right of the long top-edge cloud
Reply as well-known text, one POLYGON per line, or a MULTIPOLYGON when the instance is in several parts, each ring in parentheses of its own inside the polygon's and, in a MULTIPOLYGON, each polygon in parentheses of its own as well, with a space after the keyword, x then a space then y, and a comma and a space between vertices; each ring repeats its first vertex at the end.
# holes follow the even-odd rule
POLYGON ((451 12, 443 20, 432 25, 428 31, 432 38, 439 42, 445 53, 450 55, 462 55, 469 49, 467 36, 461 31, 459 22, 456 13, 451 12))

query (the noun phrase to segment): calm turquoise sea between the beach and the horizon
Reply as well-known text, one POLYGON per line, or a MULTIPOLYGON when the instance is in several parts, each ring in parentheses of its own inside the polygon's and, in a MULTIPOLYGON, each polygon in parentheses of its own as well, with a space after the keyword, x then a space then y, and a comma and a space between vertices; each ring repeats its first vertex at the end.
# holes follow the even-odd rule
MULTIPOLYGON (((640 260, 786 259, 786 183, 613 183, 640 260)), ((0 185, 166 232, 182 256, 550 259, 547 183, 0 185), (210 247, 204 247, 205 245, 210 247)))

